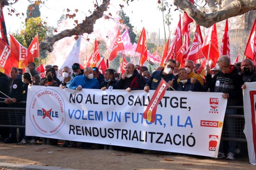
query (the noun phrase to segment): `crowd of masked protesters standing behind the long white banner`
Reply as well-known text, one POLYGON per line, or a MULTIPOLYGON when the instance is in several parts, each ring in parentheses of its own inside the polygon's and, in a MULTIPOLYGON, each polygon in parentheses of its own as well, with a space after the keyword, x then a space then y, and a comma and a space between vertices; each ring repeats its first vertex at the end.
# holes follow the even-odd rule
MULTIPOLYGON (((86 67, 82 70, 78 63, 74 63, 72 68, 65 66, 62 69, 63 80, 60 81, 56 74, 58 66, 46 65, 45 78, 40 79, 40 74, 35 70, 35 63, 28 66, 29 73, 22 74, 22 71, 12 68, 11 78, 0 73, 0 91, 7 94, 10 98, 0 94, 4 103, 9 108, 25 107, 25 104, 19 104, 19 101, 26 101, 29 85, 55 86, 60 88, 70 88, 75 90, 82 89, 123 89, 131 90, 155 90, 163 78, 170 86, 168 90, 176 91, 195 91, 195 92, 222 92, 222 97, 227 98, 227 105, 242 105, 242 89, 246 88, 245 82, 255 82, 256 74, 252 60, 244 59, 240 63, 230 65, 230 58, 226 55, 220 56, 217 61, 218 68, 206 65, 205 77, 197 74, 199 63, 191 60, 185 62, 184 68, 178 61, 169 59, 165 66, 159 66, 153 73, 148 71, 146 66, 133 65, 127 63, 125 73, 120 75, 114 69, 105 70, 101 74, 97 67, 86 67), (31 77, 32 76, 32 77, 31 77)), ((2 104, 2 103, 1 103, 2 104)), ((2 105, 3 107, 3 105, 2 105)), ((6 106, 5 106, 6 107, 6 106)), ((226 115, 234 115, 236 109, 226 109, 226 115)), ((22 117, 25 125, 25 116, 22 117)), ((229 137, 236 137, 234 130, 234 121, 226 120, 229 137)), ((2 128, 1 139, 5 143, 35 144, 36 137, 25 136, 25 129, 19 128, 20 136, 17 141, 17 128, 2 128)), ((43 138, 43 144, 58 145, 57 139, 43 138)), ((91 148, 91 143, 82 143, 77 146, 75 141, 65 141, 61 147, 79 147, 91 148)), ((227 159, 234 160, 236 142, 229 141, 227 159)), ((225 158, 223 142, 220 143, 218 158, 225 158)))

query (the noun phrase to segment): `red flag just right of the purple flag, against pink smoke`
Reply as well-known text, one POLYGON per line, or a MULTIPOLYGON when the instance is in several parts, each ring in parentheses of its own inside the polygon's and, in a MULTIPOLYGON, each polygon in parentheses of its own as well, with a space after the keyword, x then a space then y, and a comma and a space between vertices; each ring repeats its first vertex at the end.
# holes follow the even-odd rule
POLYGON ((146 39, 146 31, 145 31, 144 27, 143 27, 140 37, 139 37, 136 52, 140 53, 139 65, 143 66, 143 63, 145 61, 147 61, 147 59, 148 59, 147 39, 146 39))

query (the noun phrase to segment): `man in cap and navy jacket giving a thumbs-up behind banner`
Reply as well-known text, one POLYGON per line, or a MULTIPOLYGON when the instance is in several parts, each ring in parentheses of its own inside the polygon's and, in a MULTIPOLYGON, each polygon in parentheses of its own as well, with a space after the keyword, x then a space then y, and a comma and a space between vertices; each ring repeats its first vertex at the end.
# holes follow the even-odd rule
POLYGON ((195 78, 188 78, 186 69, 181 68, 178 71, 180 82, 177 85, 177 91, 204 91, 203 86, 195 78))

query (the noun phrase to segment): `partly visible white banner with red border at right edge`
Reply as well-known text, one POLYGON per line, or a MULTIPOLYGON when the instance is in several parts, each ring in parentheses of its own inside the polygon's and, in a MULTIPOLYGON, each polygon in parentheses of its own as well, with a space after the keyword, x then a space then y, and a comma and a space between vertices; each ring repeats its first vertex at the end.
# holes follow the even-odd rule
POLYGON ((245 114, 245 129, 244 133, 247 140, 249 161, 256 165, 256 82, 245 83, 246 89, 243 90, 244 95, 244 114, 245 114))

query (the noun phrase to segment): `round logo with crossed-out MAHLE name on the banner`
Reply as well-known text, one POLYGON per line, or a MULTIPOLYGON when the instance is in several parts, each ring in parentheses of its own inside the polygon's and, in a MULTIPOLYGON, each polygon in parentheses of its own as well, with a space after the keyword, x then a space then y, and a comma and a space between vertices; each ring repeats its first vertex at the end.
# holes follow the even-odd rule
POLYGON ((54 135, 65 124, 64 100, 56 90, 39 90, 32 98, 29 115, 38 132, 43 135, 54 135))

